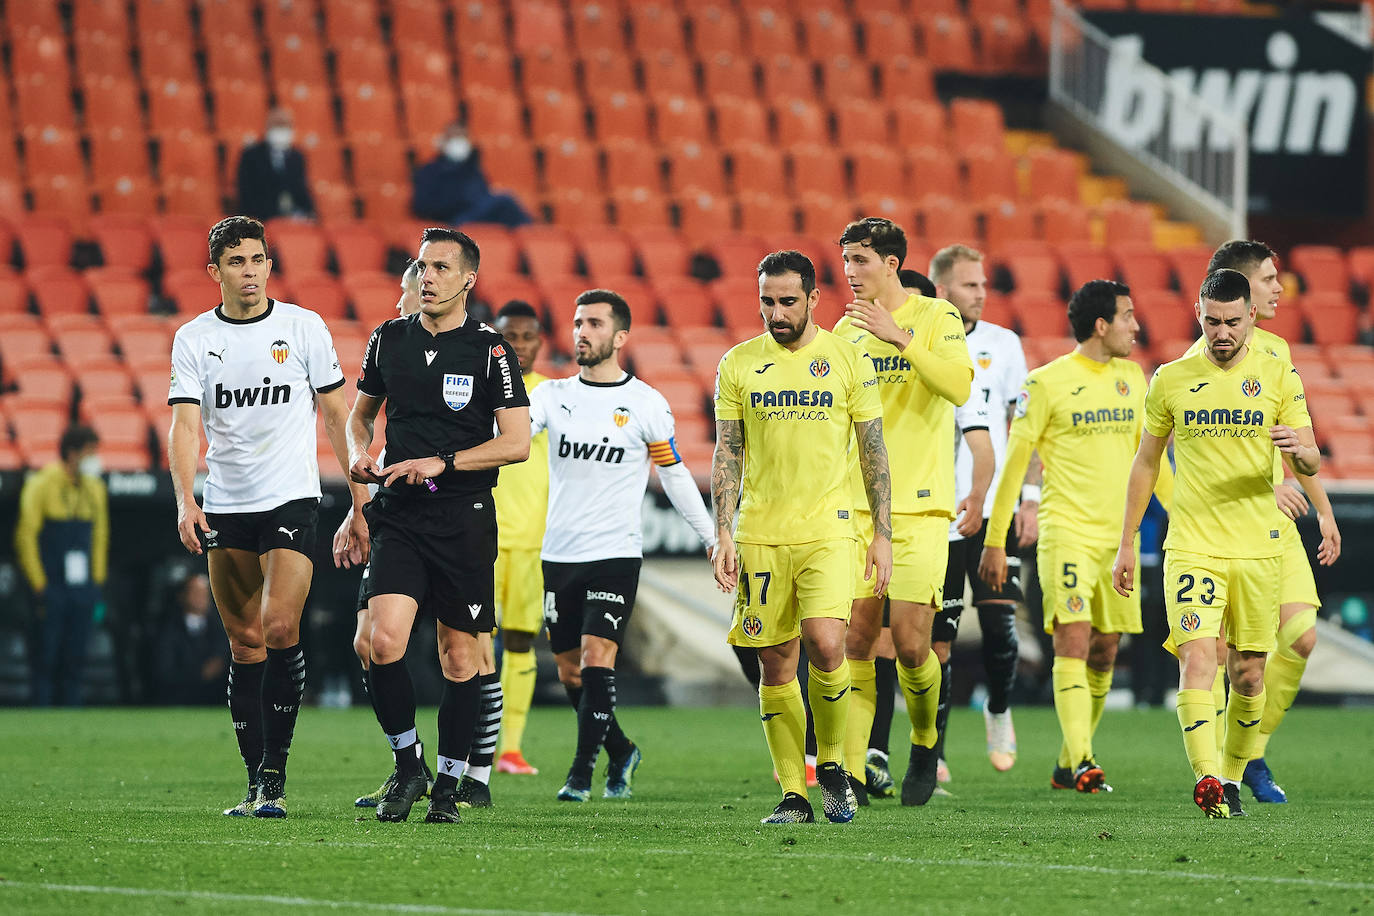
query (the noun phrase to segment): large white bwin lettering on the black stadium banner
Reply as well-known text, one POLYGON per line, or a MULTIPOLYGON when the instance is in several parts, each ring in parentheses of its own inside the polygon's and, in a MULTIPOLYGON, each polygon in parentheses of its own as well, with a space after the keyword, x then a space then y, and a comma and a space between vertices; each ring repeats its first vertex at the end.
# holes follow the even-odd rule
MULTIPOLYGON (((1204 107, 1169 95, 1142 73, 1143 40, 1138 34, 1112 40, 1101 126, 1129 147, 1145 147, 1168 130, 1173 150, 1204 147, 1204 107)), ((1294 71, 1298 45, 1287 32, 1275 32, 1265 45, 1272 70, 1175 67, 1171 81, 1201 96, 1209 108, 1234 113, 1250 128, 1250 152, 1345 155, 1355 128, 1359 88, 1340 70, 1294 71)), ((1146 65, 1147 66, 1147 65, 1146 65)), ((1230 137, 1208 130, 1206 148, 1230 148, 1230 137)))

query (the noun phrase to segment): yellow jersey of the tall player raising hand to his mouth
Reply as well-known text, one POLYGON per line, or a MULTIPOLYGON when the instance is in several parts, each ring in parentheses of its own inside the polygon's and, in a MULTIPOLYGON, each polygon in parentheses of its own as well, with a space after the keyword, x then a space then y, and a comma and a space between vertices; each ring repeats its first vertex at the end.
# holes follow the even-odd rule
MULTIPOLYGON (((912 294, 892 317, 897 327, 911 334, 912 341, 937 358, 966 367, 969 379, 973 379, 963 319, 952 305, 912 294)), ((933 391, 897 347, 855 327, 849 317, 840 319, 835 334, 859 345, 878 376, 882 438, 892 468, 892 514, 932 514, 952 519, 955 405, 933 391)), ((856 450, 849 460, 849 499, 853 508, 868 507, 856 450)))

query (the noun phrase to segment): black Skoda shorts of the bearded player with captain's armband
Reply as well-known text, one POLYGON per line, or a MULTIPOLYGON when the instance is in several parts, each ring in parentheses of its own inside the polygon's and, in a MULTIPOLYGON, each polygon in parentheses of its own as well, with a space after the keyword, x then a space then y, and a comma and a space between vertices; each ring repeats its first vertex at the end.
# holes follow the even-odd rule
POLYGON ((588 563, 544 562, 544 623, 554 654, 583 644, 583 634, 620 645, 639 591, 639 558, 588 563))

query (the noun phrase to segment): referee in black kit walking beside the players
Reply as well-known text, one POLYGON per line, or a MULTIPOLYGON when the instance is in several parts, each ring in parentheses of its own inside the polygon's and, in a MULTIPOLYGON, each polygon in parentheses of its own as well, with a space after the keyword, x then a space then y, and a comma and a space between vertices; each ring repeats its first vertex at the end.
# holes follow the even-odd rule
POLYGON ((370 694, 397 775, 376 806, 383 821, 405 820, 426 790, 405 669, 420 606, 437 621, 444 672, 437 777, 425 820, 459 821, 455 790, 481 707, 477 634, 496 623, 492 486, 497 467, 529 456, 519 363, 504 338, 467 314, 478 257, 463 232, 425 231, 419 314, 372 332, 349 417, 349 472, 381 483, 364 515, 372 541, 370 694), (383 401, 390 463, 378 467, 368 449, 383 401))

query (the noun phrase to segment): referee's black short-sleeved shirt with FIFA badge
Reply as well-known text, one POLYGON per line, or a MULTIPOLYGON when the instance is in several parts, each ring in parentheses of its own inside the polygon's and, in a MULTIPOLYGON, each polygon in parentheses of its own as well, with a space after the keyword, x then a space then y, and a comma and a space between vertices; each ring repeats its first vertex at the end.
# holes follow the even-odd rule
MULTIPOLYGON (((419 314, 392 319, 375 331, 363 356, 357 390, 386 398, 386 463, 462 452, 496 437, 496 411, 529 407, 519 361, 500 334, 469 317, 434 335, 419 314)), ((383 493, 452 499, 491 490, 496 468, 447 470, 438 490, 397 481, 383 493)))

